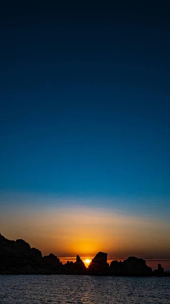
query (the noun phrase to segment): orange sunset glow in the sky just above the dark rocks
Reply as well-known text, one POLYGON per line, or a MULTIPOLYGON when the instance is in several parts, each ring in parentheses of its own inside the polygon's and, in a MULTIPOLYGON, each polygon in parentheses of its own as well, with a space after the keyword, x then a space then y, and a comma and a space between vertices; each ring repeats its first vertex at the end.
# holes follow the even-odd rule
POLYGON ((0 213, 0 222, 1 233, 7 239, 23 239, 42 255, 78 254, 83 261, 99 251, 108 256, 169 256, 169 222, 117 210, 20 207, 0 213))

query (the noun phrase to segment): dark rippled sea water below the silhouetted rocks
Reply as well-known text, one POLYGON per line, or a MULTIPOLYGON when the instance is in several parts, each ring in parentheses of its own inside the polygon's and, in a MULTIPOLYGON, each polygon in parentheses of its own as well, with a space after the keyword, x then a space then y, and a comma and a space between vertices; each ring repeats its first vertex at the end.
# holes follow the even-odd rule
POLYGON ((1 304, 170 304, 170 278, 0 275, 1 304))

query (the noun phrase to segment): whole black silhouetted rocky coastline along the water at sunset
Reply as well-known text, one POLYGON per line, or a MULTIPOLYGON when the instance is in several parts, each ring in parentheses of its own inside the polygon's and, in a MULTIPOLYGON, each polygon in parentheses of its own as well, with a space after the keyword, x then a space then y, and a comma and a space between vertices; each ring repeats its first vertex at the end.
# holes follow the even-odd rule
POLYGON ((42 256, 40 250, 31 248, 24 240, 10 241, 0 234, 0 274, 67 274, 101 276, 170 276, 160 264, 152 271, 142 258, 130 256, 124 261, 107 263, 107 253, 98 252, 86 268, 80 256, 76 262, 63 264, 54 254, 42 256))

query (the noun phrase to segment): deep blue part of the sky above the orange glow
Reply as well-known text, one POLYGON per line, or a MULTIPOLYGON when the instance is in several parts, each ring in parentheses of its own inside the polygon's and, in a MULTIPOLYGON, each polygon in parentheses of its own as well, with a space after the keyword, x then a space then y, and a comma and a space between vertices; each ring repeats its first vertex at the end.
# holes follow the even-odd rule
POLYGON ((116 197, 141 212, 155 199, 169 212, 166 10, 5 12, 1 193, 116 197))

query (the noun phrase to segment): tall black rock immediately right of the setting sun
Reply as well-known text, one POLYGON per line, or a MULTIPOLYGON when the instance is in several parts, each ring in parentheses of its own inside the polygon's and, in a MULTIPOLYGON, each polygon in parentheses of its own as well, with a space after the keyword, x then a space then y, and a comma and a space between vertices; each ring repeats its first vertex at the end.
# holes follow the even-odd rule
POLYGON ((88 267, 88 273, 94 275, 103 275, 108 271, 107 253, 98 252, 88 267))

